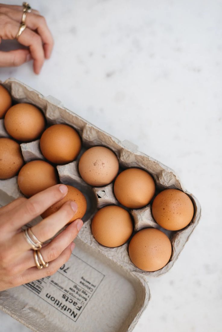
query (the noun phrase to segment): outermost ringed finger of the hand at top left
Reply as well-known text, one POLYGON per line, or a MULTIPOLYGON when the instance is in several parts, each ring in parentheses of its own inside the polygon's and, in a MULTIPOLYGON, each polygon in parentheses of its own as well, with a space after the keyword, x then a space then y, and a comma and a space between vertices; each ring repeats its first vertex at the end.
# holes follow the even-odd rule
MULTIPOLYGON (((18 23, 21 22, 22 13, 18 10, 7 8, 4 10, 4 14, 17 21, 18 23)), ((28 13, 26 16, 26 26, 33 31, 37 31, 37 33, 40 35, 44 44, 43 48, 45 57, 49 59, 53 50, 54 41, 45 18, 41 15, 36 15, 33 12, 28 13)))

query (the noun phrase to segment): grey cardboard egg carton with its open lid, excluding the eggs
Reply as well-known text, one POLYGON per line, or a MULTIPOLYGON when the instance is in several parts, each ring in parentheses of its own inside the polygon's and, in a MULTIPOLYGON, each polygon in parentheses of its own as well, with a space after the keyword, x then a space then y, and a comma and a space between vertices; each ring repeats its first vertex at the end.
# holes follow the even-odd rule
MULTIPOLYGON (((31 103, 42 109, 48 124, 73 126, 82 137, 84 147, 80 155, 90 146, 107 146, 116 153, 122 168, 139 167, 152 174, 157 193, 164 188, 177 188, 191 198, 193 219, 187 227, 175 232, 164 230, 155 222, 150 205, 130 210, 135 231, 155 227, 163 230, 172 243, 172 255, 167 265, 155 272, 145 272, 130 261, 128 243, 107 248, 92 236, 90 223, 97 209, 109 204, 119 205, 113 194, 113 184, 102 188, 87 185, 78 173, 79 157, 72 163, 57 166, 60 182, 77 187, 87 199, 84 225, 75 241, 75 250, 55 275, 0 293, 0 308, 36 332, 132 331, 150 299, 147 277, 160 276, 175 263, 200 219, 199 202, 185 190, 173 170, 139 152, 133 143, 119 141, 65 109, 55 98, 44 97, 15 79, 9 79, 3 85, 16 102, 31 103)), ((4 122, 0 120, 0 137, 7 136, 4 122)), ((26 162, 44 159, 39 140, 22 143, 21 149, 26 162)), ((17 186, 17 177, 0 181, 1 205, 20 196, 23 195, 17 186)))

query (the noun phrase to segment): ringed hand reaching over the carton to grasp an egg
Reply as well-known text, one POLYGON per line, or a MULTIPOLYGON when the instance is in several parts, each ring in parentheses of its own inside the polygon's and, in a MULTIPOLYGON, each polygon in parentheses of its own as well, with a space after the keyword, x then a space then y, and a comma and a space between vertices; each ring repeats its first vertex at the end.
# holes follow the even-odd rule
MULTIPOLYGON (((54 274, 69 259, 74 249, 73 239, 83 225, 77 219, 42 247, 41 254, 49 266, 38 270, 33 250, 21 227, 61 200, 67 193, 65 185, 55 185, 30 199, 18 198, 0 208, 0 291, 26 284, 54 274)), ((73 217, 77 210, 74 202, 66 202, 57 212, 32 227, 34 235, 46 242, 73 217)))

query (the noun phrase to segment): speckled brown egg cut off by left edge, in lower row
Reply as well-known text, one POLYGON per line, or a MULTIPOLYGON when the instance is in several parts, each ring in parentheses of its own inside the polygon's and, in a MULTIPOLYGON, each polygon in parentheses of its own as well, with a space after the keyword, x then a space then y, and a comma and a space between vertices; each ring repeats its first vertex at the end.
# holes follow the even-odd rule
POLYGON ((20 145, 10 138, 0 138, 0 179, 17 175, 24 164, 20 145))

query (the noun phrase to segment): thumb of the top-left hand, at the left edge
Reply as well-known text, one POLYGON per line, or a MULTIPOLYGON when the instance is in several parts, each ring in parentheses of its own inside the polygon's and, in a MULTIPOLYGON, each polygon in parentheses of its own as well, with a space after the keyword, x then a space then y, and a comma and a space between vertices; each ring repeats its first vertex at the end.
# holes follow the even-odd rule
POLYGON ((9 52, 0 51, 0 67, 17 67, 31 59, 28 49, 16 49, 9 52))

